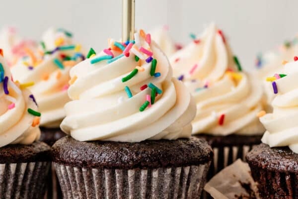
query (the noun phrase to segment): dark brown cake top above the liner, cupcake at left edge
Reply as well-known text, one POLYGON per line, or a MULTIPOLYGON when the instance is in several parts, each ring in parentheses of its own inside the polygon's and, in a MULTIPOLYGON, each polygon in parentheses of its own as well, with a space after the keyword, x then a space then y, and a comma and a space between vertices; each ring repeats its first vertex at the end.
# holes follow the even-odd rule
POLYGON ((0 164, 51 161, 51 147, 44 142, 0 147, 0 164))

